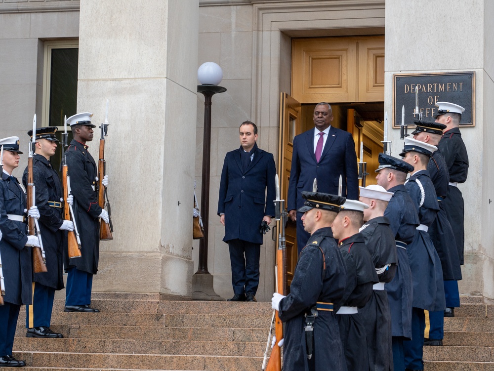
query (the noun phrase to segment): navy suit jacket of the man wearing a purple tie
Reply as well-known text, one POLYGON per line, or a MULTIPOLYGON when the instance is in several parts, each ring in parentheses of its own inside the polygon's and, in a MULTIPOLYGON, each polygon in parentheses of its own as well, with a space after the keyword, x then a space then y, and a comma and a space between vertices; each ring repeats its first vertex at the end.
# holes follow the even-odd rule
POLYGON ((357 154, 349 132, 331 126, 319 164, 314 155, 314 128, 295 136, 288 184, 288 210, 303 206, 302 191, 312 192, 314 178, 317 179, 318 192, 337 195, 340 175, 343 178, 341 195, 358 200, 357 154))

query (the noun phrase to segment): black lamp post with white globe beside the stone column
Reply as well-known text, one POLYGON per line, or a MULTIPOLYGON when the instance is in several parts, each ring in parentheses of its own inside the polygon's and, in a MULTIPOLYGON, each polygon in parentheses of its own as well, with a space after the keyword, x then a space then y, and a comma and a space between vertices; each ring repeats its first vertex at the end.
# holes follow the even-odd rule
POLYGON ((192 299, 224 300, 213 289, 213 276, 207 270, 207 239, 209 231, 209 168, 211 162, 211 98, 214 94, 226 91, 218 86, 223 78, 221 67, 213 62, 206 62, 197 72, 201 85, 197 91, 204 95, 204 137, 203 137, 203 170, 201 181, 201 215, 204 225, 204 237, 199 240, 199 267, 192 276, 192 299))

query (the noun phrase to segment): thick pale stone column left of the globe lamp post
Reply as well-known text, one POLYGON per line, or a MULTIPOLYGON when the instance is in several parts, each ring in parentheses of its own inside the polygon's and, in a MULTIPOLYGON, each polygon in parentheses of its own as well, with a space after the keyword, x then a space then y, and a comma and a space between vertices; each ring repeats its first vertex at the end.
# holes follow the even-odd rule
POLYGON ((199 0, 81 1, 77 109, 98 125, 109 99, 115 229, 94 291, 191 296, 198 14, 199 0))

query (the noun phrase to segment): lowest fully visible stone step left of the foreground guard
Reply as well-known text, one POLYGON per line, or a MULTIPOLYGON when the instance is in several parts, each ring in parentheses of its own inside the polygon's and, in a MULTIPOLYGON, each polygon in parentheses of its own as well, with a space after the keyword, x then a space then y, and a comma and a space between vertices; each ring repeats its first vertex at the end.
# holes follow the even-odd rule
MULTIPOLYGON (((124 370, 260 370, 262 357, 170 356, 104 353, 14 352, 17 359, 34 368, 83 368, 124 370)), ((25 369, 26 370, 26 369, 25 369)))

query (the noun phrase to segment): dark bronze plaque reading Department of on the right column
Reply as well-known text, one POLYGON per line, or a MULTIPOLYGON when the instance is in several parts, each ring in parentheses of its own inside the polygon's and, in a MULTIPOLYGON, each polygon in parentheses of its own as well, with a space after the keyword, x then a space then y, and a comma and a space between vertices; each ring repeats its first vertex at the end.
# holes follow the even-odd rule
POLYGON ((405 124, 418 120, 414 115, 416 102, 422 120, 434 121, 437 102, 462 106, 461 126, 475 126, 475 72, 437 74, 393 74, 393 126, 402 124, 405 106, 405 124), (418 90, 418 94, 415 93, 418 90))

